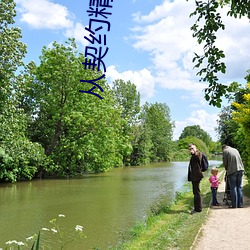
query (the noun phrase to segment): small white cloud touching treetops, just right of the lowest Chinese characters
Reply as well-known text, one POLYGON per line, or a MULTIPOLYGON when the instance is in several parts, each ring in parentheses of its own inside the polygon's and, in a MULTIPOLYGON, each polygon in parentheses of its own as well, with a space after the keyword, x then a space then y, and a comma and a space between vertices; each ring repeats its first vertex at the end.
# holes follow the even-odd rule
POLYGON ((111 65, 107 68, 106 77, 109 78, 111 82, 116 79, 122 79, 125 82, 130 81, 135 84, 137 91, 141 94, 142 103, 154 95, 155 80, 151 72, 146 68, 139 71, 128 70, 119 73, 116 67, 111 65))

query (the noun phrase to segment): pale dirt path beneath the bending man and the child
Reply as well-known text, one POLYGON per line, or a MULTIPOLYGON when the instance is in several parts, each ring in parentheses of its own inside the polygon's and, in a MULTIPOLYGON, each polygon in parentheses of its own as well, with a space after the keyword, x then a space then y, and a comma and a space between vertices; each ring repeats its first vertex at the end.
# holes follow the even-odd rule
POLYGON ((230 209, 223 202, 225 182, 218 188, 219 207, 211 207, 191 249, 250 249, 250 199, 244 196, 244 207, 230 209))

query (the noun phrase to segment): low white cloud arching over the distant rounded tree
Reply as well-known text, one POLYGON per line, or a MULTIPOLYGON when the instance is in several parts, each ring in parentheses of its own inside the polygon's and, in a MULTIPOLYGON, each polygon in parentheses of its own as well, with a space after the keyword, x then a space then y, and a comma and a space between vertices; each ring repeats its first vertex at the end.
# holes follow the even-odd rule
POLYGON ((174 140, 178 140, 183 129, 187 126, 200 125, 200 127, 206 131, 213 139, 213 141, 217 141, 217 135, 215 132, 215 128, 218 126, 217 124, 218 114, 209 114, 205 110, 195 110, 192 111, 189 118, 184 121, 175 121, 175 129, 174 129, 174 140))

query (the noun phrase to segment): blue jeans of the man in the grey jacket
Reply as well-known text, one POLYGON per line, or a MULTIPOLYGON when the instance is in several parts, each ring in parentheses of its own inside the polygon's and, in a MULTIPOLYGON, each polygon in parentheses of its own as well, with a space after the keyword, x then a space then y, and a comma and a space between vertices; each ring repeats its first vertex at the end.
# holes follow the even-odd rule
POLYGON ((230 185, 230 192, 232 196, 232 207, 243 207, 243 196, 242 196, 242 176, 244 171, 237 171, 236 173, 228 176, 230 185))

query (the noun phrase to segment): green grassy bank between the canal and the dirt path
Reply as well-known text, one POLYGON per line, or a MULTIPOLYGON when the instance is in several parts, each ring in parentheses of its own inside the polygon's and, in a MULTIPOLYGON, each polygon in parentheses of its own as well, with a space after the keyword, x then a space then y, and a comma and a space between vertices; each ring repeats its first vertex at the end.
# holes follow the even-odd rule
MULTIPOLYGON (((221 178, 223 178, 223 170, 221 178)), ((145 222, 138 223, 125 237, 124 242, 112 247, 113 250, 151 250, 151 249, 190 249, 195 237, 208 214, 211 201, 208 177, 201 181, 203 211, 190 215, 193 209, 191 184, 184 191, 177 193, 169 206, 158 204, 151 209, 145 222)))

